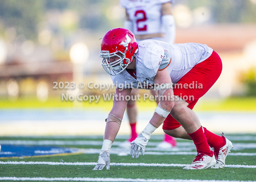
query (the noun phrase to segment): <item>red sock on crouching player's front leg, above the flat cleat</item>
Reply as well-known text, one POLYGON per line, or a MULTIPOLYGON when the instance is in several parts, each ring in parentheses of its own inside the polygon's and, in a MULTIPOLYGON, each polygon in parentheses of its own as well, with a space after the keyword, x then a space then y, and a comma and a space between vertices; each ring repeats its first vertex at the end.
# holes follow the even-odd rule
POLYGON ((212 157, 212 152, 207 143, 207 138, 204 135, 202 126, 195 132, 188 134, 196 145, 197 153, 204 153, 212 157))

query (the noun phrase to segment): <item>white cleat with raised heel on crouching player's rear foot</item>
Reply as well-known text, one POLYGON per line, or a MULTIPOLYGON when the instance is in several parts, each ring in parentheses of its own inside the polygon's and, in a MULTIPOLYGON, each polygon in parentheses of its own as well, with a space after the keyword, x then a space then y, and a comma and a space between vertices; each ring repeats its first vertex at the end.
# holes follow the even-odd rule
POLYGON ((215 166, 212 166, 213 169, 223 168, 225 166, 225 159, 227 154, 230 153, 231 148, 233 148, 232 142, 226 139, 223 133, 221 135, 224 138, 225 145, 214 151, 217 163, 215 166))

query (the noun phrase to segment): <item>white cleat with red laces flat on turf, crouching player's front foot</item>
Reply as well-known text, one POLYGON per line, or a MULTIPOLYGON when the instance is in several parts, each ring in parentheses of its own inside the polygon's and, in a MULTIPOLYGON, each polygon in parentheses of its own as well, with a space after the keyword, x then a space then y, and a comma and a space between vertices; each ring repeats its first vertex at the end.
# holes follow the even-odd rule
POLYGON ((207 169, 214 165, 216 165, 216 159, 212 151, 212 157, 206 154, 198 153, 194 161, 183 169, 207 169))

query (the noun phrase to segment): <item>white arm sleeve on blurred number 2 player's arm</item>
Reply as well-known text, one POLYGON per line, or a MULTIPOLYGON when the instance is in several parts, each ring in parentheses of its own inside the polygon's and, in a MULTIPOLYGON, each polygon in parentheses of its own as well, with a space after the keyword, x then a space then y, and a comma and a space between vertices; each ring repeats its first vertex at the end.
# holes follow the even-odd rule
POLYGON ((168 44, 173 44, 176 35, 175 20, 173 15, 163 15, 162 24, 165 30, 165 41, 168 44))

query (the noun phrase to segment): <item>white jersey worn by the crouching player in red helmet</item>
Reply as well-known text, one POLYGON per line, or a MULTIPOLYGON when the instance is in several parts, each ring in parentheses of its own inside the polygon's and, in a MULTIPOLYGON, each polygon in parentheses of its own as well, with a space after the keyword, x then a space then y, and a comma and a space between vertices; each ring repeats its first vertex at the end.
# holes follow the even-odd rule
POLYGON ((206 44, 184 43, 169 45, 159 40, 143 40, 138 42, 138 54, 136 55, 136 73, 131 75, 124 70, 118 75, 111 76, 113 83, 123 84, 118 88, 126 88, 133 85, 134 88, 153 89, 154 78, 161 65, 164 50, 171 58, 167 67, 172 83, 177 83, 196 64, 203 62, 212 54, 212 48, 206 44), (141 87, 142 86, 142 87, 141 87))

